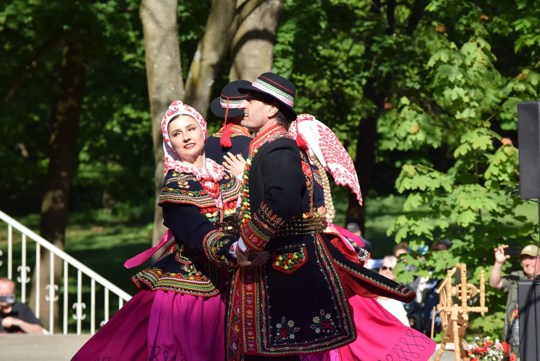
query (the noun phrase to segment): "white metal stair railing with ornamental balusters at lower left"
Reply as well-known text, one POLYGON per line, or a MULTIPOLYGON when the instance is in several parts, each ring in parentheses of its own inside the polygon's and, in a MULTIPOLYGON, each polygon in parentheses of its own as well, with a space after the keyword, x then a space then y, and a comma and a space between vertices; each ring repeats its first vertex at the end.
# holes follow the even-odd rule
MULTIPOLYGON (((0 220, 8 223, 8 278, 13 280, 13 268, 14 268, 14 239, 13 239, 13 229, 21 232, 21 264, 17 267, 17 282, 21 284, 21 301, 26 302, 26 285, 30 282, 30 273, 31 269, 26 263, 26 248, 27 248, 27 238, 36 242, 36 267, 35 271, 35 291, 36 291, 36 304, 34 311, 36 316, 39 318, 39 302, 40 302, 40 251, 41 248, 45 248, 50 251, 50 264, 49 264, 49 283, 45 285, 45 301, 49 302, 49 325, 44 326, 44 333, 53 333, 54 330, 54 307, 55 302, 59 300, 59 287, 55 284, 55 256, 59 257, 63 261, 63 282, 64 282, 64 297, 63 297, 63 333, 64 335, 69 333, 68 330, 68 301, 69 301, 69 266, 75 267, 77 269, 77 302, 72 304, 72 309, 75 310, 75 314, 72 317, 77 321, 77 335, 80 335, 82 332, 82 322, 86 319, 86 314, 83 310, 86 309, 86 304, 83 302, 83 275, 90 277, 90 333, 92 335, 96 332, 96 282, 102 285, 104 289, 103 296, 103 314, 104 319, 99 323, 99 326, 103 326, 107 321, 109 321, 109 292, 112 292, 118 296, 118 309, 122 308, 124 301, 129 301, 131 296, 127 292, 118 288, 116 285, 105 280, 102 276, 98 275, 90 268, 86 267, 84 264, 77 261, 75 258, 65 253, 63 250, 56 247, 54 244, 45 240, 42 236, 39 236, 34 231, 29 228, 26 228, 21 223, 12 219, 7 214, 0 211, 0 220), (47 327, 48 326, 48 327, 47 327)), ((0 251, 0 257, 3 256, 2 251, 0 251)), ((0 267, 4 264, 3 260, 0 260, 0 267)), ((32 305, 30 305, 32 306, 32 305)))

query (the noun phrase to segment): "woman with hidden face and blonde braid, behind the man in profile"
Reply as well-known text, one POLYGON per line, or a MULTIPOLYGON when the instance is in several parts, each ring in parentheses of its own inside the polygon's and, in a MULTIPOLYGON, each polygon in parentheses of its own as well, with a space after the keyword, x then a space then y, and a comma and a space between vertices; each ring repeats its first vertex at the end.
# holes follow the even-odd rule
MULTIPOLYGON (((336 248, 343 251, 349 258, 357 257, 357 262, 363 264, 369 255, 363 249, 354 250, 346 237, 355 235, 332 224, 335 216, 330 186, 326 172, 332 174, 337 185, 348 186, 362 205, 360 185, 354 169, 353 160, 343 148, 336 135, 326 125, 316 120, 313 115, 300 114, 289 128, 289 134, 296 143, 308 153, 309 159, 318 165, 325 190, 326 220, 328 227, 325 234, 336 248), (355 254, 356 253, 356 254, 355 254)), ((361 242, 361 241, 360 241, 361 242)), ((427 360, 435 351, 435 342, 421 332, 403 325, 396 317, 384 309, 370 295, 355 295, 348 299, 353 309, 354 323, 358 330, 353 343, 340 349, 329 351, 327 360, 427 360)))

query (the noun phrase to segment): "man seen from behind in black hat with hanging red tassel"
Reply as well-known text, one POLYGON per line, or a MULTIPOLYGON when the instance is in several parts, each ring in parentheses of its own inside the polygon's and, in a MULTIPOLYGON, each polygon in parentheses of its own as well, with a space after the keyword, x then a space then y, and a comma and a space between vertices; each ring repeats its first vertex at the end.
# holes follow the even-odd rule
POLYGON ((205 145, 206 157, 223 164, 227 171, 232 169, 224 161, 234 156, 239 159, 247 157, 249 143, 253 140, 247 128, 240 125, 244 111, 238 108, 242 100, 246 99, 246 94, 240 94, 238 87, 249 85, 251 82, 247 80, 231 81, 210 104, 210 110, 216 117, 223 119, 223 125, 217 133, 208 137, 205 145))

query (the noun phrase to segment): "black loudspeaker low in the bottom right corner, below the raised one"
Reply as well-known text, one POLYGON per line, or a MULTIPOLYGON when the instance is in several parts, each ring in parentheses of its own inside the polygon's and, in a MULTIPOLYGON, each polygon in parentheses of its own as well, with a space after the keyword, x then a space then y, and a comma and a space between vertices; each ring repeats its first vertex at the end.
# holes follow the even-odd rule
POLYGON ((524 361, 540 360, 540 278, 519 280, 517 282, 517 299, 519 305, 519 359, 524 361))

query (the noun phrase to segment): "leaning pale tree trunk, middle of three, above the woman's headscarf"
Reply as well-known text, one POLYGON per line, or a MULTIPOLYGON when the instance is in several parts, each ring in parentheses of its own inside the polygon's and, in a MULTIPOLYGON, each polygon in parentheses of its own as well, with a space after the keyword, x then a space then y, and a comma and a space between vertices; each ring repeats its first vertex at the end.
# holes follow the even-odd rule
POLYGON ((191 62, 185 103, 206 117, 214 79, 240 25, 266 0, 247 0, 238 8, 233 0, 213 0, 203 39, 191 62))

